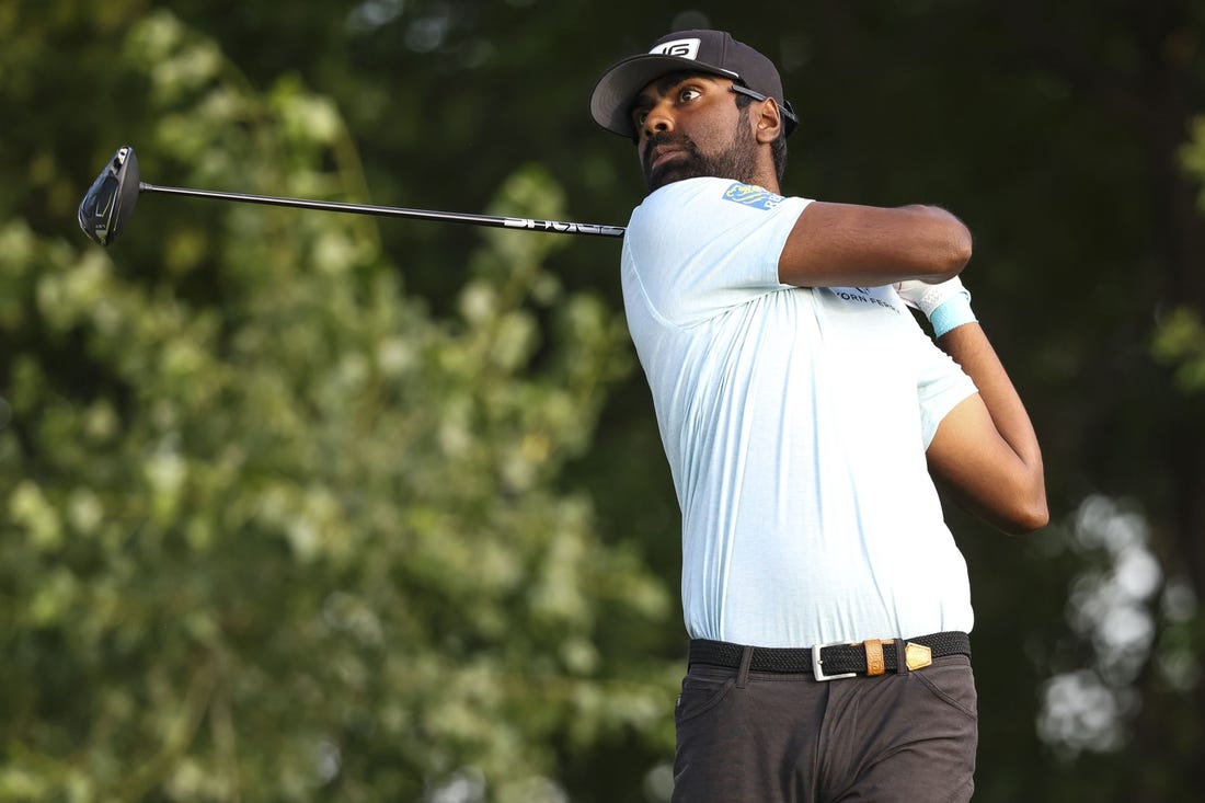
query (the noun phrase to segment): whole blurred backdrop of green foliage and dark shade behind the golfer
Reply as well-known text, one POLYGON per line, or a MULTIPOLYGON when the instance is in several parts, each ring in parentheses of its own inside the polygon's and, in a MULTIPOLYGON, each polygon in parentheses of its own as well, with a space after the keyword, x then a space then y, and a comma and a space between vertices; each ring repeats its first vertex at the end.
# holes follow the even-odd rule
MULTIPOLYGON (((623 224, 587 115, 674 28, 771 55, 784 188, 940 204, 1052 524, 948 517, 977 801, 1205 787, 1205 6, 0 2, 0 801, 654 803, 678 512, 618 244, 146 181, 623 224)), ((1197 790, 1197 792, 1193 792, 1197 790)))

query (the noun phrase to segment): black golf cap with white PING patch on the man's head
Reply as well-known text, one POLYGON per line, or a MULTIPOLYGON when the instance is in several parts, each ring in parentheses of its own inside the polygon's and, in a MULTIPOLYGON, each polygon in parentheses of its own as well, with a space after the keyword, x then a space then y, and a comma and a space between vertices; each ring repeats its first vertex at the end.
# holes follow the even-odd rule
POLYGON ((682 71, 731 78, 759 99, 774 98, 782 110, 787 135, 794 130, 798 118, 782 95, 782 78, 774 61, 722 30, 694 29, 666 34, 647 53, 611 65, 594 84, 590 116, 606 130, 636 139, 636 128, 629 115, 636 95, 651 81, 682 71))

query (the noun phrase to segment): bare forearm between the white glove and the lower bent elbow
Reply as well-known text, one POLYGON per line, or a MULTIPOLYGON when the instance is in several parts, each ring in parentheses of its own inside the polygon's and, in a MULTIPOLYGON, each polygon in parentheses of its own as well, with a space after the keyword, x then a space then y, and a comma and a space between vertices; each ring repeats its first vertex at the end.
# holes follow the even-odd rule
POLYGON ((978 323, 951 329, 937 345, 957 362, 978 388, 1000 438, 1016 453, 1023 467, 1019 485, 1029 505, 1045 514, 1046 475, 1038 434, 1029 420, 1012 380, 978 323))

